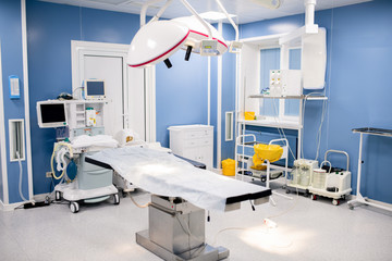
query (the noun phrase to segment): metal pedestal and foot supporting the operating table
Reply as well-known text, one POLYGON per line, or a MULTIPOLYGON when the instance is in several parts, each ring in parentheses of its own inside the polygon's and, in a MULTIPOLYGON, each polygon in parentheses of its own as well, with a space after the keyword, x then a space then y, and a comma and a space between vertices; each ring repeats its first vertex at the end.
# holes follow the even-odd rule
POLYGON ((151 196, 149 229, 136 233, 136 243, 164 260, 217 261, 229 250, 205 241, 205 210, 181 198, 151 196))

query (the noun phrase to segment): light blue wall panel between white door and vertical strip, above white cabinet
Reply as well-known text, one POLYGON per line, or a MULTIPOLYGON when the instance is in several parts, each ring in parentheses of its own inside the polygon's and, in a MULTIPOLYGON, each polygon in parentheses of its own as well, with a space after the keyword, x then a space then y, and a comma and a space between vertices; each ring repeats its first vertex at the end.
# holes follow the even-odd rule
POLYGON ((156 66, 157 141, 169 147, 172 125, 207 124, 207 59, 185 51, 170 58, 173 66, 156 66))

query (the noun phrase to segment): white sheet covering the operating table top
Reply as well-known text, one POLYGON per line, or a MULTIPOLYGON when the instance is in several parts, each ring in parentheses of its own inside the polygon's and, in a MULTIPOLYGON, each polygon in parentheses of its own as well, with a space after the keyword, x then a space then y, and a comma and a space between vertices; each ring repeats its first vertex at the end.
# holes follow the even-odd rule
POLYGON ((197 169, 173 154, 147 148, 106 149, 89 158, 109 164, 127 182, 151 194, 181 197, 208 210, 223 211, 226 198, 266 189, 197 169))

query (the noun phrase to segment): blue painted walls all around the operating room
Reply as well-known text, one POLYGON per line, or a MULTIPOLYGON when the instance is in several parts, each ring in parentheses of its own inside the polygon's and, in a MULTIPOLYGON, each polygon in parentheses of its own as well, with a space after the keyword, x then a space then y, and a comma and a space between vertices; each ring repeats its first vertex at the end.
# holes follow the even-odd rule
MULTIPOLYGON (((1 3, 19 7, 16 2, 1 3)), ((328 35, 329 108, 322 132, 321 156, 327 149, 341 149, 350 153, 354 190, 358 135, 352 134, 351 129, 362 126, 392 128, 389 116, 392 89, 383 83, 383 77, 377 77, 391 73, 389 61, 392 58, 392 32, 388 27, 392 24, 391 5, 391 1, 376 0, 316 14, 316 23, 326 27, 328 35)), ((20 24, 20 18, 15 18, 20 17, 20 8, 13 10, 17 14, 12 17, 11 14, 0 15, 0 20, 8 17, 7 27, 0 27, 2 49, 17 49, 15 53, 20 54, 15 60, 10 58, 11 52, 3 51, 3 76, 22 76, 22 41, 20 33, 14 33, 20 29, 11 29, 9 24, 10 21, 20 24), (9 32, 14 33, 13 38, 5 41, 12 44, 5 42, 4 46, 3 35, 9 32), (12 66, 15 66, 13 72, 8 69, 12 66)), ((245 24, 240 26, 241 38, 291 32, 301 27, 305 15, 301 14, 245 24)), ((71 92, 71 40, 128 44, 138 23, 138 15, 27 1, 34 194, 49 191, 50 184, 45 172, 49 170, 54 140, 53 129, 39 129, 37 126, 36 101, 54 98, 62 91, 71 92)), ((0 26, 3 24, 0 23, 0 26)), ((228 39, 234 37, 230 25, 223 26, 223 34, 228 39)), ((192 55, 191 61, 185 62, 183 57, 184 52, 173 55, 173 67, 170 70, 163 64, 157 66, 157 140, 163 146, 169 142, 169 125, 207 123, 207 59, 192 55)), ((217 129, 217 59, 211 60, 211 123, 217 129)), ((224 112, 234 110, 234 76, 235 57, 226 53, 223 57, 222 160, 232 158, 234 152, 233 142, 224 141, 224 112)), ((3 84, 8 86, 8 83, 3 84)), ((7 88, 4 97, 8 97, 7 88)), ((7 102, 10 103, 8 108, 14 105, 19 112, 23 111, 23 104, 15 105, 10 100, 7 102)), ((321 102, 308 102, 305 114, 305 158, 314 158, 316 154, 315 139, 320 115, 321 102)), ((392 178, 388 175, 388 150, 391 145, 392 140, 387 138, 365 139, 364 192, 370 198, 388 202, 392 202, 392 192, 388 191, 387 185, 392 178)), ((331 160, 336 165, 344 165, 344 160, 340 158, 332 157, 331 160)))

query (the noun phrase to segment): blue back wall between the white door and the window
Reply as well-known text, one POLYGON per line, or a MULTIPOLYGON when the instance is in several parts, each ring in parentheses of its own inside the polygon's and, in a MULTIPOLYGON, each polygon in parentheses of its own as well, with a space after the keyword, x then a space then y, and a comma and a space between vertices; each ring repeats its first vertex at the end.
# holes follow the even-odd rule
MULTIPOLYGON (((226 40, 235 38, 231 25, 223 24, 223 37, 226 40)), ((171 125, 207 124, 207 58, 192 54, 188 62, 184 61, 185 52, 179 51, 170 58, 173 67, 168 70, 163 63, 157 65, 157 140, 169 147, 171 125), (160 115, 160 116, 159 116, 160 115)), ((213 140, 217 140, 217 77, 218 59, 211 58, 211 107, 210 123, 213 126, 213 140)), ((234 157, 234 141, 225 141, 226 111, 235 109, 235 54, 226 52, 223 55, 222 72, 222 110, 221 159, 234 157)), ((217 147, 215 146, 215 159, 217 147)), ((216 166, 216 160, 213 161, 216 166)))

